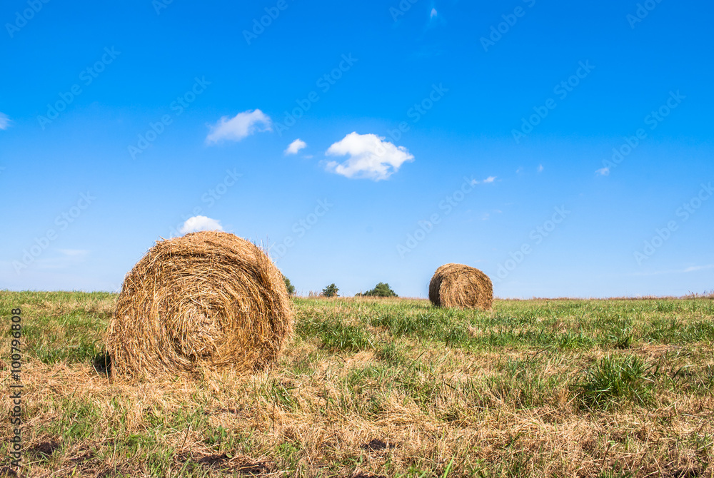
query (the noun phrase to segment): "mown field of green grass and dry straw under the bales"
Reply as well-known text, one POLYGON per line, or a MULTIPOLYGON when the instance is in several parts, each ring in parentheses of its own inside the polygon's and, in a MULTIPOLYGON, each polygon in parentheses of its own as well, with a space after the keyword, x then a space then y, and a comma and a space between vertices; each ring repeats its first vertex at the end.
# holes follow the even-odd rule
POLYGON ((273 369, 159 383, 91 365, 115 300, 0 293, 4 410, 23 310, 24 476, 714 474, 713 298, 297 298, 273 369))

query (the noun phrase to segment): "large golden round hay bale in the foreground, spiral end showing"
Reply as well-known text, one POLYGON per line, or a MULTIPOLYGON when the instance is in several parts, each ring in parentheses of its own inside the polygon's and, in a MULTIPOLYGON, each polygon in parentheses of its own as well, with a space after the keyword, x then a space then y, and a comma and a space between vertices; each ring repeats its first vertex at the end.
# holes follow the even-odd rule
POLYGON ((107 351, 118 375, 265 367, 292 331, 283 275, 247 240, 217 231, 156 243, 124 279, 107 351))

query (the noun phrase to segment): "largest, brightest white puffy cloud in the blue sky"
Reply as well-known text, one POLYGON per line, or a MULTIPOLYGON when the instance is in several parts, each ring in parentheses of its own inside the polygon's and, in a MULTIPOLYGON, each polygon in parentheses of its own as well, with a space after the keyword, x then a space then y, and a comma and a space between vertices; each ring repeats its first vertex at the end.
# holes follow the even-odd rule
POLYGON ((327 171, 348 178, 386 179, 414 156, 403 146, 394 146, 376 134, 349 133, 328 148, 326 156, 349 155, 347 161, 329 161, 327 171))

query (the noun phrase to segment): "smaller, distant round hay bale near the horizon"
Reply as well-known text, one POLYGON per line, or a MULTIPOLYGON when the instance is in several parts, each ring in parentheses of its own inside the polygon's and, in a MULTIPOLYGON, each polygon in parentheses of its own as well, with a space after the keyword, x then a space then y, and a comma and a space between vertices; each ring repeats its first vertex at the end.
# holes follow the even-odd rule
POLYGON ((429 300, 437 307, 491 310, 493 284, 481 270, 446 264, 431 278, 429 300))

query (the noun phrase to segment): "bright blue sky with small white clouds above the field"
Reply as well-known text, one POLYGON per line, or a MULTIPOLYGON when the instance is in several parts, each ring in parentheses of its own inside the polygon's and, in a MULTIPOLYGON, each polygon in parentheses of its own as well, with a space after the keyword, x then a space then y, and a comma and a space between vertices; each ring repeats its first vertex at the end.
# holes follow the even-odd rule
POLYGON ((301 293, 714 289, 714 5, 240 3, 4 2, 0 288, 222 228, 301 293))

